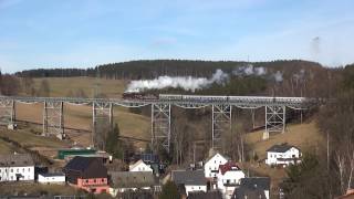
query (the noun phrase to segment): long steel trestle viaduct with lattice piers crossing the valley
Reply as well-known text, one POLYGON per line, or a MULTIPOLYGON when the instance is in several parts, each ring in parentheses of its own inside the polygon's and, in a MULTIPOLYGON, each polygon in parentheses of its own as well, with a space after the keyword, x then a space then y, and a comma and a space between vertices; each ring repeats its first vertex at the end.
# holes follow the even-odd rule
POLYGON ((202 96, 181 100, 117 100, 117 98, 71 98, 71 97, 22 97, 0 96, 0 123, 14 124, 17 103, 43 103, 43 136, 54 135, 60 139, 65 137, 63 104, 87 105, 92 107, 93 133, 97 129, 97 121, 113 122, 113 106, 152 107, 152 145, 170 148, 171 106, 181 108, 211 107, 212 111, 212 147, 221 147, 221 134, 231 128, 232 108, 266 108, 266 130, 263 139, 270 133, 284 133, 287 108, 308 109, 317 104, 314 98, 306 97, 269 97, 269 96, 202 96))

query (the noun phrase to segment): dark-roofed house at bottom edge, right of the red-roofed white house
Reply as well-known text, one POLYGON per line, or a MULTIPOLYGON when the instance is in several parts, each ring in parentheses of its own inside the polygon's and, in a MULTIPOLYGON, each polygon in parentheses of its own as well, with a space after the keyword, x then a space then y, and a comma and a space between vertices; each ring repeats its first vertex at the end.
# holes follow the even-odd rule
POLYGON ((269 199, 270 198, 270 178, 252 177, 242 178, 240 186, 233 191, 231 199, 269 199))

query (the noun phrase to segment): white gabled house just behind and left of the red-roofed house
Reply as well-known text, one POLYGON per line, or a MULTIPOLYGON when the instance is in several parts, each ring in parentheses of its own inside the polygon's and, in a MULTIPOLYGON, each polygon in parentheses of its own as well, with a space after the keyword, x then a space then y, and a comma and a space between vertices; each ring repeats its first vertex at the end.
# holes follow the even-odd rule
POLYGON ((215 178, 219 172, 219 166, 228 163, 228 159, 221 156, 219 153, 211 156, 206 160, 204 165, 204 174, 206 178, 215 178))

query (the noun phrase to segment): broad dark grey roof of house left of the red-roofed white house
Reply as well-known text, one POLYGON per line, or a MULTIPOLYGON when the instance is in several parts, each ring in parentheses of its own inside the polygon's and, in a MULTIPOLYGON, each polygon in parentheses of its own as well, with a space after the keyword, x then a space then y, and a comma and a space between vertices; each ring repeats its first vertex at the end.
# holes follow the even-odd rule
POLYGON ((171 180, 177 185, 207 185, 204 170, 173 170, 171 180))

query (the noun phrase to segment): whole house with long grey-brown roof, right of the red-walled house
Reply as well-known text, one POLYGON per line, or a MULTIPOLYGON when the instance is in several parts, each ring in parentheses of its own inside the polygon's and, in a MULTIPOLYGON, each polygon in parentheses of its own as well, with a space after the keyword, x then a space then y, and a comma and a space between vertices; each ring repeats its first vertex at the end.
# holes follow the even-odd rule
POLYGON ((125 191, 160 191, 158 179, 150 171, 110 171, 108 176, 110 193, 114 197, 125 191))

